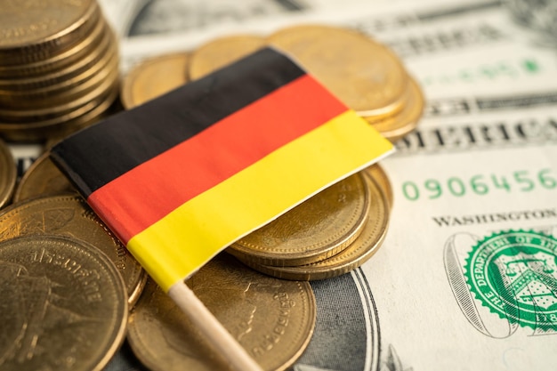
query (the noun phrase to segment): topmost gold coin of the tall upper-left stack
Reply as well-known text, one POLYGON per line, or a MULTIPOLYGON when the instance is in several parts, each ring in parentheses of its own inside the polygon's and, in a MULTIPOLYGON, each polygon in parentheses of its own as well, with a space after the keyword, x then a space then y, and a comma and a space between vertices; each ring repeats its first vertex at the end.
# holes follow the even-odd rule
POLYGON ((4 0, 0 64, 23 64, 64 52, 84 39, 100 17, 94 0, 4 0))

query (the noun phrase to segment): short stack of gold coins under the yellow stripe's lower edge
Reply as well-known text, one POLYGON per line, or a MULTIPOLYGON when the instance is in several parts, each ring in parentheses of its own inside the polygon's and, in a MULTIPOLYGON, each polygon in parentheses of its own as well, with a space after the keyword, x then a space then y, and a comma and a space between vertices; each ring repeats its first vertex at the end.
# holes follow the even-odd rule
POLYGON ((351 175, 226 251, 270 276, 332 278, 359 267, 383 244, 392 206, 380 165, 351 175))

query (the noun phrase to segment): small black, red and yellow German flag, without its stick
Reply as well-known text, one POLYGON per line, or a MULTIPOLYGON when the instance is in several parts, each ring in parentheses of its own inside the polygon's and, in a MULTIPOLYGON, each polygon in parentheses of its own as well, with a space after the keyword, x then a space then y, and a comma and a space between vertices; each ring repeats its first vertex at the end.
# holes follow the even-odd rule
POLYGON ((267 48, 57 144, 52 160, 168 291, 392 144, 267 48))

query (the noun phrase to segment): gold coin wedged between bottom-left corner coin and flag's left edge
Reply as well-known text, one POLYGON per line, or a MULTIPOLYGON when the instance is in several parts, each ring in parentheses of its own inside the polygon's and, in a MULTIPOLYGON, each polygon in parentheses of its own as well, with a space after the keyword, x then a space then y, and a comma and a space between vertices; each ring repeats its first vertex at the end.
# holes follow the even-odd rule
POLYGON ((28 235, 79 238, 106 254, 122 275, 130 305, 141 294, 147 275, 83 198, 74 195, 32 198, 0 213, 0 241, 28 235))

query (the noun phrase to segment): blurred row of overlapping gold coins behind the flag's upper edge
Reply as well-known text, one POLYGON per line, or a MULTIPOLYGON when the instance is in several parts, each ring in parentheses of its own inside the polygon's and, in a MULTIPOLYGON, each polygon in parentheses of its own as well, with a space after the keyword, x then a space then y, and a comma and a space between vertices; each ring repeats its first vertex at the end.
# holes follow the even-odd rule
POLYGON ((424 94, 396 54, 356 31, 319 25, 283 28, 269 36, 225 36, 189 53, 146 60, 125 77, 125 109, 268 45, 293 57, 385 138, 398 141, 416 129, 424 94))

